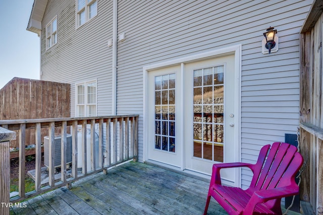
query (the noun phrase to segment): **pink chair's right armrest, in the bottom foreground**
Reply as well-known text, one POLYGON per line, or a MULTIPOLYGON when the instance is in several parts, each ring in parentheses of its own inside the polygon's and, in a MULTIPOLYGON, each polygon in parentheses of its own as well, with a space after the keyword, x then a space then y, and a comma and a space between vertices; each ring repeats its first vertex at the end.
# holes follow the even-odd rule
POLYGON ((296 184, 289 185, 286 187, 278 187, 273 189, 255 191, 252 194, 250 200, 248 201, 243 214, 252 214, 255 206, 258 203, 264 203, 268 200, 292 196, 298 193, 299 193, 299 187, 296 184))

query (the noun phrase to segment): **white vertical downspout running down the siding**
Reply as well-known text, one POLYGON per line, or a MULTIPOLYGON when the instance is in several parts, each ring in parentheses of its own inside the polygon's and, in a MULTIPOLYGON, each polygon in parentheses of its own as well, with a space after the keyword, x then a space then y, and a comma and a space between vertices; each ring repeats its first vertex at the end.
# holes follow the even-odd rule
POLYGON ((117 115, 117 34, 118 34, 118 0, 113 0, 112 24, 112 115, 117 115))

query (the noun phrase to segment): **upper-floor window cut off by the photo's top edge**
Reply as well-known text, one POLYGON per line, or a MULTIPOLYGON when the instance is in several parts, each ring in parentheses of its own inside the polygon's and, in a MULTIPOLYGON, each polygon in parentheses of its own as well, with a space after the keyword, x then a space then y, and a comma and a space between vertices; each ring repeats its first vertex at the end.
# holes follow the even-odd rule
POLYGON ((76 5, 77 27, 97 15, 97 0, 77 0, 76 5))

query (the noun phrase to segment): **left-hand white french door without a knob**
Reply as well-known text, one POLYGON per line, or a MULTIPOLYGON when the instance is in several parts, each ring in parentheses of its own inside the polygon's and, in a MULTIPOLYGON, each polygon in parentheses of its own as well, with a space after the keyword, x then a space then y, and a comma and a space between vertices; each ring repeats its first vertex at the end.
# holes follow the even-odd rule
POLYGON ((148 158, 181 167, 182 139, 179 121, 180 65, 150 71, 148 75, 148 158))

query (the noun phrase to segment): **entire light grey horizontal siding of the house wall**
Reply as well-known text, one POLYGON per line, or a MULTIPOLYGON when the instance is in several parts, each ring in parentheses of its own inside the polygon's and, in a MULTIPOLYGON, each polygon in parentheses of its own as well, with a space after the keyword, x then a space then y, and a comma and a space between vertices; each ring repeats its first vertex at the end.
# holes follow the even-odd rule
MULTIPOLYGON (((60 42, 45 50, 42 80, 81 83, 97 79, 97 115, 112 113, 113 1, 98 1, 97 16, 75 30, 74 1, 48 0, 43 24, 57 14, 60 42), (91 38, 91 39, 89 39, 91 38)), ((240 160, 255 163, 263 145, 284 141, 299 122, 299 31, 312 0, 118 1, 117 114, 140 114, 143 157, 143 66, 242 44, 240 160), (275 5, 275 13, 268 8, 275 5), (279 51, 261 53, 262 33, 275 27, 279 51)), ((43 31, 45 26, 43 26, 43 31)), ((43 32, 42 31, 42 32, 43 32)), ((71 101, 75 101, 71 88, 71 101)), ((75 115, 71 104, 71 116, 75 115)), ((242 186, 251 179, 242 170, 242 186)))

